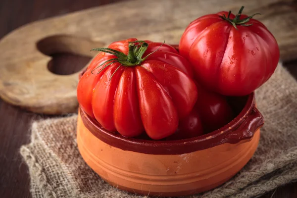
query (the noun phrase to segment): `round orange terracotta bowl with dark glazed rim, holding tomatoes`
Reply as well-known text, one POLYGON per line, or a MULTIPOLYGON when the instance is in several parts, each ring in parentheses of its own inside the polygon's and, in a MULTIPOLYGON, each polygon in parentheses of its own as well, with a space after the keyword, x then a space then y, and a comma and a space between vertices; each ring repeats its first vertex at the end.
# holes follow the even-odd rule
POLYGON ((238 116, 196 138, 149 141, 104 130, 79 109, 77 144, 86 163, 109 184, 149 196, 186 196, 213 189, 240 171, 255 152, 264 120, 254 93, 230 99, 238 116), (243 107, 242 107, 243 106, 243 107))

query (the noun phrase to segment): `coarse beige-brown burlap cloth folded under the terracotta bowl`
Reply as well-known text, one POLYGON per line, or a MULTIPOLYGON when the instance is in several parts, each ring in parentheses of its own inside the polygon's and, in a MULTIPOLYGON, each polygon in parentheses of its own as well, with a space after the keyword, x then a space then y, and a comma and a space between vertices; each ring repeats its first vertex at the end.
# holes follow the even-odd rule
MULTIPOLYGON (((233 179, 192 198, 257 197, 297 179, 297 82, 278 65, 256 91, 265 117, 260 144, 233 179)), ((76 144, 77 115, 35 121, 20 152, 30 171, 33 198, 141 198, 109 186, 83 161, 76 144)))

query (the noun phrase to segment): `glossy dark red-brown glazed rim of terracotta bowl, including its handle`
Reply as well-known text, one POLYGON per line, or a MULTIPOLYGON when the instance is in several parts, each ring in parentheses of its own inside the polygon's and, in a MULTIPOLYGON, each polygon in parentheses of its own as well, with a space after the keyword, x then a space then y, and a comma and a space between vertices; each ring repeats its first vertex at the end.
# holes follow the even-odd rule
MULTIPOLYGON (((84 71, 80 73, 80 77, 84 71)), ((250 140, 254 133, 263 126, 264 118, 255 107, 255 96, 247 96, 242 111, 224 127, 202 136, 183 140, 141 140, 127 138, 117 132, 110 132, 101 127, 99 122, 87 115, 81 107, 79 113, 85 127, 102 142, 123 150, 146 154, 184 154, 212 148, 225 143, 237 144, 250 140)))

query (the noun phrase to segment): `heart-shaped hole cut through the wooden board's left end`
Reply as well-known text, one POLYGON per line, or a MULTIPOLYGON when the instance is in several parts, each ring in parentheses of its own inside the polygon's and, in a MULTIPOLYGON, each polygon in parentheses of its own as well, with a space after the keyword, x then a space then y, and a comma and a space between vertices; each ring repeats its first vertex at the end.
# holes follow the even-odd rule
POLYGON ((101 48, 104 43, 72 35, 53 35, 40 40, 36 46, 45 55, 52 56, 48 63, 50 72, 70 75, 82 70, 95 55, 90 50, 101 48))

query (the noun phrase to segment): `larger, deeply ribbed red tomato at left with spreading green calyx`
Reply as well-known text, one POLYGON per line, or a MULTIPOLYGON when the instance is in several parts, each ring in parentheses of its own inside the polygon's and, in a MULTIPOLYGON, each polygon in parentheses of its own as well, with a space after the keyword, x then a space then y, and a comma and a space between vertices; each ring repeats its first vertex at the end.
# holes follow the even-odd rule
POLYGON ((95 50, 101 52, 78 83, 81 108, 126 137, 173 134, 198 97, 190 63, 172 46, 137 39, 95 50))

